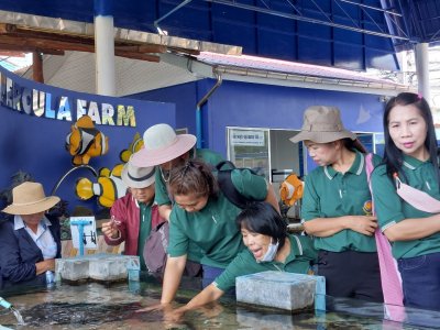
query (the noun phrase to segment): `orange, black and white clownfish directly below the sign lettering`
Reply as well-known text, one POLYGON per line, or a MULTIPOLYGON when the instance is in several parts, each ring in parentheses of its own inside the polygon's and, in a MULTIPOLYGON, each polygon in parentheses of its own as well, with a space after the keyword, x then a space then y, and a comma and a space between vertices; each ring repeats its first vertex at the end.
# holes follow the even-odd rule
POLYGON ((66 150, 74 156, 75 166, 87 165, 90 157, 105 155, 109 151, 109 139, 95 128, 88 116, 82 116, 72 125, 66 138, 66 150))

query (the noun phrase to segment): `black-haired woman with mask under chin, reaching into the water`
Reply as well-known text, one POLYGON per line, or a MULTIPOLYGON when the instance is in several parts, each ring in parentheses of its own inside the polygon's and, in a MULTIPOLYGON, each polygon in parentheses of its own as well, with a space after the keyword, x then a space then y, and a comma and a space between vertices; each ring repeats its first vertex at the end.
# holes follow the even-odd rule
POLYGON ((307 274, 317 261, 310 238, 288 234, 283 218, 267 202, 254 202, 246 207, 237 217, 237 226, 248 249, 237 255, 213 283, 187 305, 176 309, 174 318, 178 319, 189 309, 219 299, 235 286, 238 276, 264 271, 307 274))

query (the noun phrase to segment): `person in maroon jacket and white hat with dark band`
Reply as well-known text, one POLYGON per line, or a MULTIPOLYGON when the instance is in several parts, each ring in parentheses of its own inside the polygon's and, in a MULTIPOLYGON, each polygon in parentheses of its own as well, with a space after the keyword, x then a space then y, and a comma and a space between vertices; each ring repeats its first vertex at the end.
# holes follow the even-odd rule
POLYGON ((139 255, 141 270, 146 270, 143 257, 145 240, 153 228, 165 221, 158 215, 157 205, 153 204, 154 166, 136 167, 130 158, 121 178, 129 193, 114 201, 110 210, 112 220, 102 223, 102 233, 109 245, 125 242, 124 254, 139 255))

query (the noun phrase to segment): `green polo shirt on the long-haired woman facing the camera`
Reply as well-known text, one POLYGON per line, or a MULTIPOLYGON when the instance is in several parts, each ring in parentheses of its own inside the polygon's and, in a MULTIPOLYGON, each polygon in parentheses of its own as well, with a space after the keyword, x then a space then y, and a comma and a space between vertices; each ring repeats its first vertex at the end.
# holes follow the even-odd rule
MULTIPOLYGON (((414 157, 404 156, 404 163, 399 173, 403 183, 422 190, 436 199, 440 199, 439 183, 431 162, 420 162, 414 157)), ((417 219, 431 217, 432 213, 417 210, 396 193, 396 184, 386 175, 386 166, 378 166, 372 175, 373 196, 375 209, 381 230, 400 222, 405 219, 417 219)), ((392 243, 395 258, 414 257, 430 253, 440 252, 440 233, 430 237, 392 243)))

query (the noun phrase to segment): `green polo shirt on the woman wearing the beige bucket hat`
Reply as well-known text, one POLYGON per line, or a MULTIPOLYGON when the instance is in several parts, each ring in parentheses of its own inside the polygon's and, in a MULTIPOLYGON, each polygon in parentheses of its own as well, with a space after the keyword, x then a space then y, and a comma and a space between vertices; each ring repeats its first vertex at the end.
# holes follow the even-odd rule
MULTIPOLYGON (((344 174, 331 166, 320 166, 306 176, 301 205, 305 221, 316 218, 338 218, 343 216, 366 216, 371 213, 371 194, 365 173, 365 155, 356 155, 350 169, 344 174)), ((373 164, 381 157, 374 155, 373 164)), ((317 250, 331 252, 358 251, 375 252, 374 237, 361 234, 351 229, 327 238, 314 238, 317 250)))

